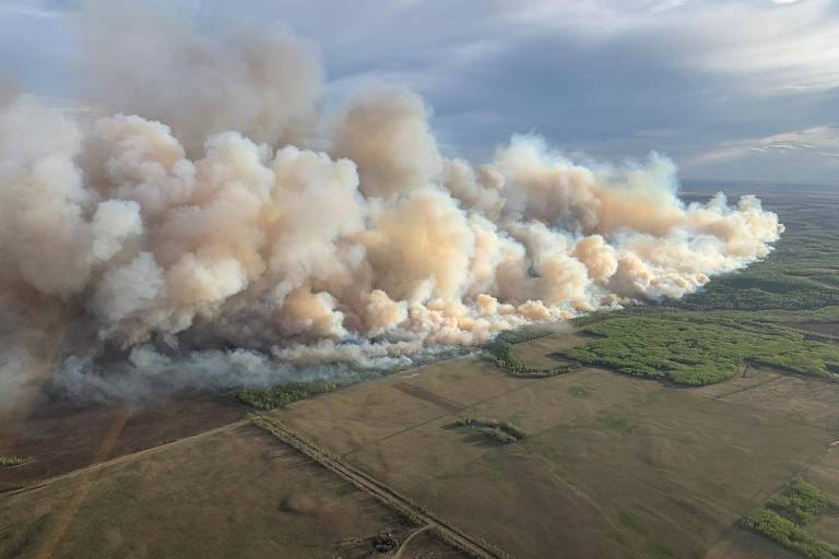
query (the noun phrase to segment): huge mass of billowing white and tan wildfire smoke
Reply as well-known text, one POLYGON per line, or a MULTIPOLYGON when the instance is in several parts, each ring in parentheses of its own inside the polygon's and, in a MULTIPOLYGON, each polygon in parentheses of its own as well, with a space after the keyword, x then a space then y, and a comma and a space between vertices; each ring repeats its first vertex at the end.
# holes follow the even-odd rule
POLYGON ((74 336, 55 379, 74 393, 388 368, 681 297, 783 230, 754 197, 685 204, 657 154, 583 166, 515 136, 484 165, 448 159, 409 92, 322 127, 317 57, 287 34, 123 24, 87 22, 97 98, 123 112, 83 130, 26 97, 0 108, 7 403, 38 369, 28 331, 74 336))

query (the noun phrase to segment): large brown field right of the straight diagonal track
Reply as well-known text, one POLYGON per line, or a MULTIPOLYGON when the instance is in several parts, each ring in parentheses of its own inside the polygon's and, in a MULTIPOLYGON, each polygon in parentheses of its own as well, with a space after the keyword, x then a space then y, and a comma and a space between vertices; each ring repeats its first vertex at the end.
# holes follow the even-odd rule
MULTIPOLYGON (((517 354, 535 364, 567 343, 579 340, 517 354)), ((753 557, 780 558, 731 526, 820 460, 838 397, 835 384, 771 371, 685 390, 599 369, 513 379, 465 358, 272 417, 515 557, 748 557, 754 547, 753 557), (454 428, 459 413, 530 437, 496 445, 454 428)))

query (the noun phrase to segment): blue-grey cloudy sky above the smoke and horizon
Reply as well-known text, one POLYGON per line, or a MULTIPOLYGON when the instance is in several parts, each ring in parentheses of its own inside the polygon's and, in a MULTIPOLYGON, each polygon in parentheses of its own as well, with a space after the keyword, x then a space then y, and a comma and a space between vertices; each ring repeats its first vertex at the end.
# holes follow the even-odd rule
MULTIPOLYGON (((0 73, 84 103, 81 3, 0 0, 0 73)), ((208 34, 235 21, 312 40, 327 105, 382 83, 421 93, 446 155, 480 162, 537 133, 598 159, 657 151, 682 179, 839 183, 832 0, 162 3, 208 34)))

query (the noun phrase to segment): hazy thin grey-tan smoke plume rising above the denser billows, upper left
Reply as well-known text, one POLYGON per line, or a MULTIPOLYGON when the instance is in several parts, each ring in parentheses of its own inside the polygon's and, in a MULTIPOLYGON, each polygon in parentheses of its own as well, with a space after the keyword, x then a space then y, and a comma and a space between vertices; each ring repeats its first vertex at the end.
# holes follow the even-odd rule
POLYGON ((88 2, 80 22, 91 99, 165 122, 188 153, 228 130, 271 144, 311 138, 319 51, 282 27, 238 26, 212 39, 163 8, 114 0, 88 2))

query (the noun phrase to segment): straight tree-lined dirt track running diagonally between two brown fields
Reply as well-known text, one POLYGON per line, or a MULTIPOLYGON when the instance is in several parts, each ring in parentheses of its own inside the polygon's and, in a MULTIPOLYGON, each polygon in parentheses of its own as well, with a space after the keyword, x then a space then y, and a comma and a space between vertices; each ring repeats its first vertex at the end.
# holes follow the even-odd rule
POLYGON ((251 415, 251 418, 255 425, 265 429, 285 444, 288 444, 323 467, 334 472, 357 488, 371 497, 375 497, 386 506, 397 510, 399 513, 407 516, 417 524, 425 524, 426 527, 424 530, 436 532, 444 542, 465 551, 471 557, 478 559, 509 559, 504 551, 493 549, 489 545, 464 534, 457 527, 437 518, 434 513, 414 504, 381 481, 356 469, 340 457, 320 449, 314 442, 293 432, 282 424, 259 414, 251 415))

